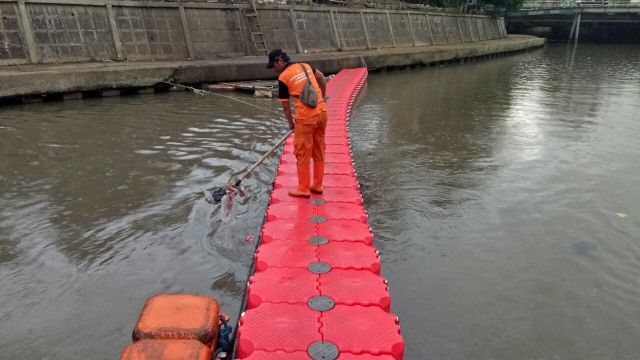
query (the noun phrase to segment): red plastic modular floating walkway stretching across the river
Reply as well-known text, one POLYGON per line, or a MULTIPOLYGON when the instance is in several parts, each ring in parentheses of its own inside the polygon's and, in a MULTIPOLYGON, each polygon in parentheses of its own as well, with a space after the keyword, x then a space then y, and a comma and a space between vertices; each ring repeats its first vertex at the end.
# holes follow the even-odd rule
POLYGON ((365 68, 327 83, 324 190, 289 196, 297 185, 293 136, 276 172, 236 356, 251 360, 400 360, 404 340, 380 276, 356 173, 347 122, 365 68))

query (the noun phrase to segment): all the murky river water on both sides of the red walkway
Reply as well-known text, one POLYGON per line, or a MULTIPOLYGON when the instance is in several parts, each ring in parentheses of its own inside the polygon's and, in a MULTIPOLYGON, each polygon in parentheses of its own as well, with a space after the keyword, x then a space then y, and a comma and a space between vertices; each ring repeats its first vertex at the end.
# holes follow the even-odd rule
MULTIPOLYGON (((640 47, 372 73, 353 157, 405 359, 640 356, 640 47)), ((275 100, 0 108, 0 359, 113 359, 144 301, 240 311, 277 157, 223 224, 201 191, 284 133, 275 100), (274 111, 274 112, 272 112, 274 111)))

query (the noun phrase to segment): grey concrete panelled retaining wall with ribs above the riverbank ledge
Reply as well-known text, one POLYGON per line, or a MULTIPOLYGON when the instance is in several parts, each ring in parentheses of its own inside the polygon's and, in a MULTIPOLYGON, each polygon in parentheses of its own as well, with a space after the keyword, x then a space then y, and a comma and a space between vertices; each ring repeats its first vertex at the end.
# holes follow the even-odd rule
MULTIPOLYGON (((239 4, 0 0, 0 65, 232 58, 257 54, 239 4)), ((504 38, 488 16, 313 6, 258 7, 268 48, 290 53, 504 38)))

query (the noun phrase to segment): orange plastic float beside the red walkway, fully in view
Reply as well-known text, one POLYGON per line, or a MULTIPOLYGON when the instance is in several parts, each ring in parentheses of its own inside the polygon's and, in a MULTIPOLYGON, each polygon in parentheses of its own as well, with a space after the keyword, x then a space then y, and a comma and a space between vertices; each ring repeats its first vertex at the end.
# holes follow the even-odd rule
POLYGON ((215 349, 219 314, 220 304, 211 296, 159 294, 149 298, 142 308, 133 341, 198 340, 215 349))

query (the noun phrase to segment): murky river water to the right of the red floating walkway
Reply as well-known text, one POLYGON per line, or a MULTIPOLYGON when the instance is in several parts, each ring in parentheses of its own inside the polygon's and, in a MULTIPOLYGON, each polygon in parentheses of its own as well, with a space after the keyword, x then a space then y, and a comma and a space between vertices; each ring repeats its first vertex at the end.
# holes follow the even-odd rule
POLYGON ((637 358, 639 58, 370 76, 350 135, 405 358, 637 358))

